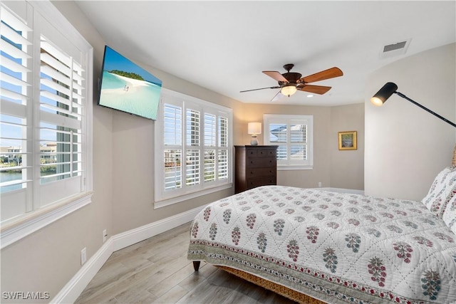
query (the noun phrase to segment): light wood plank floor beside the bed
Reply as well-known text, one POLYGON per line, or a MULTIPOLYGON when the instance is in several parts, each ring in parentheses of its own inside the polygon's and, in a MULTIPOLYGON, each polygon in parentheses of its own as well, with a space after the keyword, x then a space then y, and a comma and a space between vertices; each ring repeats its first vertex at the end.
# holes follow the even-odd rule
POLYGON ((202 262, 187 260, 190 223, 110 256, 76 303, 290 303, 202 262))

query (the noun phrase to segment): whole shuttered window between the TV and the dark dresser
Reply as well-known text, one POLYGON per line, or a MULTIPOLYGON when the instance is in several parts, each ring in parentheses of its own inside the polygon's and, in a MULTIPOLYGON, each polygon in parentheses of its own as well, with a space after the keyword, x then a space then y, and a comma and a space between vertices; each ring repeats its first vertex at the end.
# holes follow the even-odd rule
POLYGON ((162 89, 155 207, 232 187, 232 110, 162 89))

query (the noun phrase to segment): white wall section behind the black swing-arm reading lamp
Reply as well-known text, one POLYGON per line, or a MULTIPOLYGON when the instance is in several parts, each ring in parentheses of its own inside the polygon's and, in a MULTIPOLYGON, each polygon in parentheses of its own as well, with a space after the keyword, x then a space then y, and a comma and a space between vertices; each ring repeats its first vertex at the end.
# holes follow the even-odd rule
POLYGON ((372 73, 366 86, 365 193, 421 200, 451 164, 456 128, 393 94, 370 98, 385 83, 455 122, 455 44, 403 58, 372 73))

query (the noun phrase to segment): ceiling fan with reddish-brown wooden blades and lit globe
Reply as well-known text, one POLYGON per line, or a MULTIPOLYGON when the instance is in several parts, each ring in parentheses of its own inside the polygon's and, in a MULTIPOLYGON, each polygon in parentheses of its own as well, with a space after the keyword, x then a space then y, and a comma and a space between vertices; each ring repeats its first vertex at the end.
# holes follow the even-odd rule
POLYGON ((274 87, 268 88, 259 88, 253 90, 242 90, 240 93, 250 92, 254 90, 264 90, 264 89, 278 89, 280 88, 279 92, 272 98, 272 101, 279 100, 284 96, 291 96, 296 93, 297 90, 315 93, 315 94, 324 94, 331 89, 331 87, 327 87, 324 85, 309 85, 308 83, 314 83, 316 81, 326 80, 329 78, 335 78, 342 76, 343 73, 339 68, 328 68, 328 70, 322 70, 321 72, 306 76, 301 78, 300 73, 290 72, 290 70, 294 67, 294 64, 288 63, 284 65, 284 69, 286 73, 279 73, 276 70, 264 70, 263 73, 268 75, 271 78, 274 78, 279 82, 279 85, 274 87))

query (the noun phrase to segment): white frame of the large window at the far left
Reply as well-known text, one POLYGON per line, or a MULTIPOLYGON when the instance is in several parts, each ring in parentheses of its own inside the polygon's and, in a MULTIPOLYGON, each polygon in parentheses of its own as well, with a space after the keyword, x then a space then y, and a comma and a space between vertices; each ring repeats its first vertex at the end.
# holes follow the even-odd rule
MULTIPOLYGON (((61 14, 58 9, 51 3, 51 1, 16 1, 9 2, 8 4, 1 4, 2 9, 10 11, 12 14, 18 16, 18 18, 23 19, 26 22, 26 26, 32 29, 33 41, 32 48, 33 51, 31 56, 33 58, 32 63, 32 72, 31 72, 31 81, 33 82, 32 90, 33 93, 30 100, 34 101, 30 105, 33 110, 31 110, 31 116, 35 117, 34 120, 39 120, 39 100, 36 98, 39 96, 39 83, 40 83, 40 68, 39 63, 40 59, 40 37, 46 33, 46 38, 50 38, 51 42, 60 46, 62 49, 67 48, 67 43, 78 50, 81 50, 83 55, 83 61, 86 62, 86 75, 85 75, 85 88, 83 88, 83 117, 81 124, 81 130, 83 131, 83 141, 81 143, 82 153, 84 154, 84 174, 81 179, 83 187, 81 187, 81 192, 77 194, 72 194, 71 196, 63 196, 58 198, 56 201, 47 202, 46 204, 41 203, 42 197, 41 194, 45 195, 46 188, 49 187, 49 184, 42 184, 43 186, 40 189, 33 189, 32 192, 32 201, 28 201, 26 204, 32 204, 31 211, 26 211, 25 213, 19 214, 18 216, 13 216, 9 219, 4 219, 1 221, 1 248, 9 246, 11 243, 19 241, 20 239, 32 234, 38 229, 61 219, 63 216, 71 214, 73 211, 76 211, 91 202, 91 196, 93 194, 93 160, 92 160, 92 115, 93 115, 93 47, 86 41, 85 38, 79 33, 76 28, 61 14), (44 23, 46 22, 46 24, 44 23), (54 37, 48 29, 51 28, 51 31, 58 32, 58 35, 65 37, 66 40, 59 40, 59 38, 54 37), (47 30, 46 30, 47 29, 47 30), (38 46, 37 46, 38 45, 38 46), (36 49, 38 48, 38 51, 36 49), (38 67, 38 68, 37 68, 38 67), (37 75, 38 73, 38 75, 37 75), (38 106, 37 106, 38 103, 38 106), (37 118, 38 117, 38 118, 37 118)), ((28 117, 28 119, 30 119, 28 117)), ((33 122, 28 122, 33 124, 33 122)), ((33 130, 36 129, 36 124, 33 125, 33 130)), ((37 131, 33 131, 36 133, 37 131)), ((27 135, 27 140, 30 136, 30 133, 27 135)), ((38 135, 34 134, 31 137, 33 141, 37 141, 38 135)), ((38 140, 39 142, 39 140, 38 140)), ((31 154, 33 158, 32 166, 33 168, 39 167, 39 157, 41 152, 38 149, 34 150, 31 154), (33 165, 35 164, 35 165, 33 165)), ((36 169, 33 169, 33 179, 39 179, 39 174, 36 174, 36 169)), ((71 179, 71 178, 70 178, 71 179)), ((65 179, 63 179, 65 180, 65 179)), ((36 188, 36 187, 35 187, 36 188)), ((14 196, 13 192, 2 193, 2 196, 14 196)))

